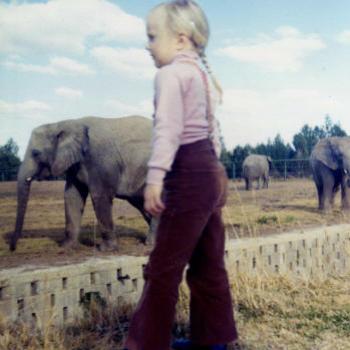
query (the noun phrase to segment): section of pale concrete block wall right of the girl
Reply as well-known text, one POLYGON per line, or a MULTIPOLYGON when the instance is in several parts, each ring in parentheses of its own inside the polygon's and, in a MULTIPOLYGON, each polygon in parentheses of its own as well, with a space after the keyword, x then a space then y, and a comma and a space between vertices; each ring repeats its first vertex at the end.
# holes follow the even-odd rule
POLYGON ((230 240, 226 247, 232 278, 239 272, 325 278, 348 273, 349 257, 350 225, 230 240))

